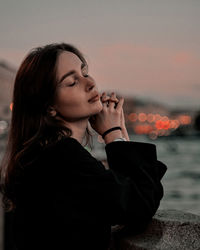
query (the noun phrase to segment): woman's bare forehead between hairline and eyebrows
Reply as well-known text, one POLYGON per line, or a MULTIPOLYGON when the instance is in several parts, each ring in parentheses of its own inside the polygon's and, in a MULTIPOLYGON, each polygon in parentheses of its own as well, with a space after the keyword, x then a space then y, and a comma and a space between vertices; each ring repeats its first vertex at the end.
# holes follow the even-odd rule
POLYGON ((80 70, 81 64, 82 61, 77 55, 69 51, 64 51, 58 56, 57 76, 62 76, 71 70, 80 70))

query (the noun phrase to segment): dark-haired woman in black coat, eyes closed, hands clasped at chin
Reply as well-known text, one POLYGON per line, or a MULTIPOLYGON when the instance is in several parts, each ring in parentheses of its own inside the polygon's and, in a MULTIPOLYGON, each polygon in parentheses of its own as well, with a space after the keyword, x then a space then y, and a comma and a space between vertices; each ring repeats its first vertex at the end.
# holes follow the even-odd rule
POLYGON ((99 93, 70 44, 38 47, 24 59, 1 169, 16 249, 108 249, 111 226, 136 233, 151 220, 166 166, 153 144, 129 140, 123 102, 99 93), (89 126, 105 141, 109 169, 84 148, 89 126))

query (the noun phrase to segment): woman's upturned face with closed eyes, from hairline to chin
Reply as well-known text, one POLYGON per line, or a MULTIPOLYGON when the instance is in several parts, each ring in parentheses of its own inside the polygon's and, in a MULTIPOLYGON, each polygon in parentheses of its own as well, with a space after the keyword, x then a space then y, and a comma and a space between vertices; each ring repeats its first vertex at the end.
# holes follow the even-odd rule
POLYGON ((83 65, 77 55, 69 51, 59 55, 57 81, 54 108, 64 120, 86 119, 102 110, 95 81, 88 75, 87 65, 83 65), (97 98, 90 101, 94 96, 97 98))

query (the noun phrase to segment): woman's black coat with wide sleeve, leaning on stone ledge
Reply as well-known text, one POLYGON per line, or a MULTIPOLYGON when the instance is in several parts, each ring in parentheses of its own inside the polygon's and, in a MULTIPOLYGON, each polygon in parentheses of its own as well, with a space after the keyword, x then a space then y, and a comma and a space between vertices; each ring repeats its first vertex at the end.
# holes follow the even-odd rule
POLYGON ((136 233, 147 225, 166 171, 155 145, 117 141, 105 150, 109 170, 74 138, 22 159, 11 222, 15 249, 103 250, 111 226, 136 233))

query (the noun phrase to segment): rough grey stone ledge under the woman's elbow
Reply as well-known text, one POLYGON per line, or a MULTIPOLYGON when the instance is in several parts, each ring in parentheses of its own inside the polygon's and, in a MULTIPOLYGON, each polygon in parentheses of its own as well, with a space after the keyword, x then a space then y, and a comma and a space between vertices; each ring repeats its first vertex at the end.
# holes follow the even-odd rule
POLYGON ((200 250, 200 216, 158 210, 145 231, 117 240, 117 250, 200 250))

